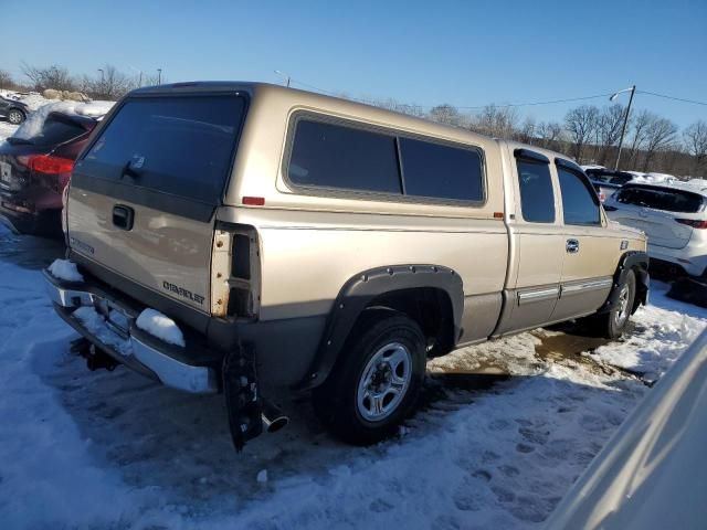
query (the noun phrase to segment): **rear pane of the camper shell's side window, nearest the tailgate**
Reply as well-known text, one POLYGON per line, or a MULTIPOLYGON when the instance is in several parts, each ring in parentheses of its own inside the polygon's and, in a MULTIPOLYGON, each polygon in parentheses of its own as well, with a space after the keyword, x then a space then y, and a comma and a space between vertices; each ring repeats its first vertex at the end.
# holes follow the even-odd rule
POLYGON ((288 178, 298 186, 401 194, 395 137, 300 119, 288 178))

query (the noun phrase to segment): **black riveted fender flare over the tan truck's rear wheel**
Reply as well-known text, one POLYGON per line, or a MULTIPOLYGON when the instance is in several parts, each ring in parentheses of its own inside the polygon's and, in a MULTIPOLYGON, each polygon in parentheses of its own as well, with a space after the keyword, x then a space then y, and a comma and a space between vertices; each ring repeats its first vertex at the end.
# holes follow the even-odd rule
POLYGON ((327 379, 356 320, 371 300, 397 290, 425 287, 441 289, 449 295, 456 340, 464 311, 464 285, 455 271, 439 265, 390 265, 363 271, 341 287, 329 311, 314 361, 305 380, 296 384, 295 390, 313 389, 327 379))

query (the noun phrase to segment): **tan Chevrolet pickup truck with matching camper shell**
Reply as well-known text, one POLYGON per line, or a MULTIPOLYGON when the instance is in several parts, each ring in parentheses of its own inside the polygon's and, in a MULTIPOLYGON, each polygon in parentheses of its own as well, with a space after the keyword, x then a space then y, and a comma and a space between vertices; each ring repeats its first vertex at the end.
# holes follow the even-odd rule
POLYGON ((563 155, 265 84, 131 92, 65 211, 44 276, 74 350, 223 391, 236 448, 277 386, 380 441, 426 357, 578 317, 615 338, 648 290, 644 235, 563 155))

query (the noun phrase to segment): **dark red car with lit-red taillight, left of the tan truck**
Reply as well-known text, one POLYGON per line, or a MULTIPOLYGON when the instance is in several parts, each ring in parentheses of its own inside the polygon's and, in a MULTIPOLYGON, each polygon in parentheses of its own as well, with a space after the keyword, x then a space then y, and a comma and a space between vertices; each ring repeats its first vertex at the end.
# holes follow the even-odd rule
POLYGON ((20 233, 62 234, 62 192, 97 123, 53 112, 30 138, 0 144, 0 221, 20 233))

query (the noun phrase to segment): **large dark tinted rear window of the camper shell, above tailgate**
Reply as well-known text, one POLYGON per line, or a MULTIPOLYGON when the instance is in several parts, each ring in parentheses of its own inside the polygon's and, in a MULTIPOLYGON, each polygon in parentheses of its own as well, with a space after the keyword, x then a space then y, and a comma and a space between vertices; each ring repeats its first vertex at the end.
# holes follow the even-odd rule
POLYGON ((84 171, 218 204, 244 112, 240 96, 128 99, 85 155, 84 171))

